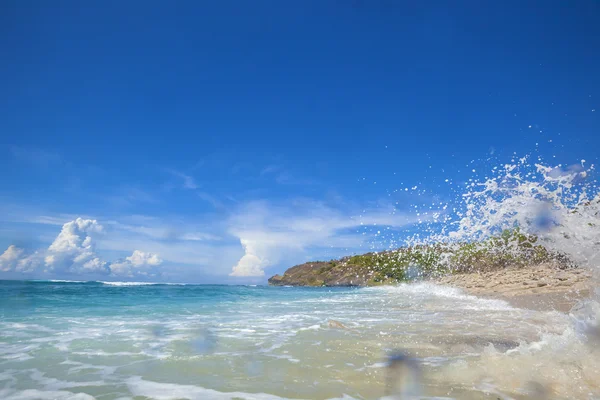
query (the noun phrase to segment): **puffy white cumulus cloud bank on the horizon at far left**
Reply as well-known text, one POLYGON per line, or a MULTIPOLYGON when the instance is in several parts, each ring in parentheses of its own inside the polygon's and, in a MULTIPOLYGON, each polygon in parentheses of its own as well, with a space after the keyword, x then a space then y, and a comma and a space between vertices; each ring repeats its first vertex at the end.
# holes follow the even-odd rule
POLYGON ((46 250, 27 253, 10 245, 0 256, 0 271, 31 273, 112 274, 136 276, 148 273, 162 263, 157 254, 134 250, 131 256, 112 264, 96 254, 94 236, 104 228, 93 219, 77 218, 62 226, 46 250))

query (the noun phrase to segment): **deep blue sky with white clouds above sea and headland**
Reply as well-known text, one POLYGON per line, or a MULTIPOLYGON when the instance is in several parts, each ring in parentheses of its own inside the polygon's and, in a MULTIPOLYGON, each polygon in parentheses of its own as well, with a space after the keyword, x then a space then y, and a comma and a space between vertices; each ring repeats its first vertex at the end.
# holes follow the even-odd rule
POLYGON ((0 277, 261 283, 598 159, 595 1, 1 7, 0 277))

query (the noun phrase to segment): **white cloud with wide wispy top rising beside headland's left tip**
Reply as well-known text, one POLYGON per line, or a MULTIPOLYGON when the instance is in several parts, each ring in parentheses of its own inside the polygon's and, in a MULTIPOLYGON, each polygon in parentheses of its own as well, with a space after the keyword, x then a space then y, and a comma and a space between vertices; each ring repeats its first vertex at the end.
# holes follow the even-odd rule
POLYGON ((363 237, 346 231, 361 225, 402 227, 415 222, 414 217, 387 208, 349 214, 306 200, 283 205, 264 201, 247 204, 229 221, 230 234, 239 238, 244 248, 244 255, 229 275, 264 276, 265 268, 298 258, 307 248, 357 247, 363 237))

